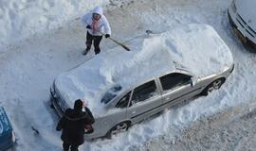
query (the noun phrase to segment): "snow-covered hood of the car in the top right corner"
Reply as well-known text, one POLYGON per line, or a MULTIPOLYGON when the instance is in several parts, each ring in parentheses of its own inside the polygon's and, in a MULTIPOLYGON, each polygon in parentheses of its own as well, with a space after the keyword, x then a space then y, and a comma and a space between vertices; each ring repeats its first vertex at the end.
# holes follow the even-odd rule
POLYGON ((256 32, 256 1, 255 0, 236 0, 238 14, 256 32))

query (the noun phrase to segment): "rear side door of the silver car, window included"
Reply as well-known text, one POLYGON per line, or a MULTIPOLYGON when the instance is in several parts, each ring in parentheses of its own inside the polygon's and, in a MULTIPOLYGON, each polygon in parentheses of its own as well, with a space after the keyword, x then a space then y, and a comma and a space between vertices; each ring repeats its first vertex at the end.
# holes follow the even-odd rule
POLYGON ((159 112, 161 104, 162 100, 155 80, 146 82, 133 90, 127 108, 127 118, 133 123, 141 121, 159 112))

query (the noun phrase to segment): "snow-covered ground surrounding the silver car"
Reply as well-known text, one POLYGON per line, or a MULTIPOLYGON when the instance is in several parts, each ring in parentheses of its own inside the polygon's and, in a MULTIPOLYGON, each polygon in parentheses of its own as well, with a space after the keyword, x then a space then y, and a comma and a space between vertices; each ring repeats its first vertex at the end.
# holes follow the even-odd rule
MULTIPOLYGON (((94 1, 95 3, 88 1, 86 3, 84 1, 86 4, 83 4, 83 7, 79 8, 78 11, 75 11, 76 8, 69 8, 67 2, 62 1, 61 4, 68 9, 68 12, 64 13, 65 17, 58 20, 58 15, 60 14, 46 10, 46 14, 53 16, 46 23, 52 24, 53 28, 47 28, 47 26, 42 25, 39 25, 42 28, 34 26, 34 29, 38 29, 41 34, 34 34, 37 31, 33 29, 30 31, 27 25, 25 25, 24 29, 21 27, 21 25, 24 25, 22 22, 39 22, 32 19, 33 16, 36 19, 41 18, 44 7, 40 5, 40 1, 38 1, 37 5, 30 5, 31 8, 25 10, 27 17, 19 18, 19 15, 11 15, 11 9, 16 10, 15 6, 19 8, 23 7, 21 4, 37 3, 35 1, 26 2, 28 1, 22 1, 21 3, 14 0, 6 1, 5 3, 1 2, 4 5, 1 5, 0 8, 1 11, 5 12, 0 14, 9 13, 10 16, 18 17, 15 20, 11 17, 6 19, 7 16, 0 16, 0 26, 4 26, 2 28, 3 31, 0 33, 1 38, 3 37, 1 47, 4 47, 1 49, 0 54, 0 105, 7 110, 10 122, 18 138, 14 150, 61 150, 60 133, 55 131, 58 117, 53 110, 48 108, 47 104, 49 87, 53 79, 60 73, 94 56, 93 52, 90 52, 85 57, 81 55, 84 48, 84 28, 76 18, 80 15, 82 16, 82 12, 86 11, 87 8, 93 8, 96 4, 101 3, 109 4, 106 16, 112 25, 112 36, 122 42, 130 42, 132 39, 143 36, 146 29, 163 32, 172 29, 176 25, 191 23, 212 25, 224 42, 229 45, 235 62, 235 70, 220 91, 166 110, 163 114, 151 120, 132 126, 128 132, 122 133, 112 140, 96 140, 84 143, 81 147, 82 150, 158 150, 160 147, 157 148, 157 143, 162 144, 163 147, 168 147, 170 150, 190 150, 191 148, 195 148, 194 150, 215 150, 216 148, 213 145, 212 147, 211 145, 204 147, 201 144, 209 143, 210 141, 190 143, 190 137, 196 138, 197 136, 197 131, 193 129, 196 129, 197 126, 199 126, 199 129, 201 126, 208 129, 210 126, 214 127, 213 125, 216 123, 217 126, 222 126, 224 131, 226 129, 229 134, 232 124, 243 126, 243 122, 239 125, 239 119, 243 119, 240 118, 240 115, 243 114, 244 110, 255 109, 256 85, 254 83, 256 82, 256 71, 254 69, 256 69, 256 56, 249 53, 230 30, 227 8, 231 0, 126 0, 125 4, 119 0, 109 2, 94 1), (37 13, 32 10, 36 8, 39 10, 37 13), (6 21, 11 21, 13 26, 6 27, 6 21), (46 31, 47 29, 51 30, 46 31), (19 42, 12 42, 12 39, 16 38, 19 42), (6 43, 11 44, 6 47, 6 43), (234 110, 240 110, 237 111, 240 114, 235 114, 234 110), (226 115, 229 124, 222 125, 222 123, 225 124, 225 120, 218 120, 221 119, 219 115, 226 115), (210 120, 204 119, 210 118, 214 119, 214 123, 196 125, 197 123, 200 124, 202 120, 203 123, 208 123, 210 120), (237 120, 238 122, 236 122, 237 120), (37 127, 41 135, 34 135, 30 126, 37 127), (186 132, 191 135, 186 135, 186 132), (171 148, 171 144, 176 145, 171 148), (182 148, 183 144, 189 145, 187 145, 187 148, 182 148), (190 146, 201 147, 190 148, 190 146)), ((44 1, 44 3, 47 2, 50 1, 44 1)), ((59 1, 56 0, 54 2, 57 3, 59 1)), ((80 6, 82 3, 73 2, 72 5, 74 6, 80 6)), ((55 7, 57 6, 56 4, 55 7)), ((59 7, 57 7, 56 11, 62 13, 65 9, 59 10, 59 7)), ((106 53, 111 53, 110 51, 108 52, 108 49, 115 46, 114 43, 105 39, 101 43, 101 47, 106 53)), ((249 124, 253 124, 253 121, 249 124)), ((246 127, 253 128, 251 126, 246 127)), ((212 132, 218 132, 222 128, 209 129, 212 132)), ((205 135, 201 136, 207 136, 205 137, 206 139, 212 134, 207 133, 207 130, 204 132, 205 135)), ((255 139, 251 135, 246 135, 245 133, 237 134, 237 137, 251 138, 252 142, 243 146, 242 143, 245 142, 243 139, 234 139, 235 143, 224 142, 214 138, 212 140, 216 141, 214 143, 217 144, 230 144, 230 148, 238 150, 242 150, 244 147, 247 147, 245 149, 247 150, 251 148, 253 141, 255 143, 255 139), (239 143, 239 141, 242 142, 239 143), (240 145, 237 145, 238 143, 240 145)), ((233 137, 236 136, 234 135, 233 137)), ((224 139, 226 138, 228 137, 224 137, 224 139)), ((224 145, 218 146, 220 146, 220 150, 228 150, 224 145)))

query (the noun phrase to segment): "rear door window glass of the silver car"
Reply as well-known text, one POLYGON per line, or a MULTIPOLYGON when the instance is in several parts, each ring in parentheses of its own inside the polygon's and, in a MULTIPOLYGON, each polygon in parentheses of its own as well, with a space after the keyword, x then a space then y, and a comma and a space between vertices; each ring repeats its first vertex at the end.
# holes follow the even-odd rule
POLYGON ((132 104, 136 104, 137 102, 142 102, 155 95, 157 95, 157 88, 155 85, 155 80, 152 80, 150 82, 147 82, 138 86, 134 90, 133 96, 132 96, 132 104))

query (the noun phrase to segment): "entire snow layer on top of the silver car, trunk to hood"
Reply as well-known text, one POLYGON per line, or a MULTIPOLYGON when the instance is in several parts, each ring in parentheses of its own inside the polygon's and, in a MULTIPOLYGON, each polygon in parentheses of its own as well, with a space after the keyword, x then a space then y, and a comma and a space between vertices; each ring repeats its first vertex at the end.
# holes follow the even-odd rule
POLYGON ((55 80, 58 92, 70 107, 82 98, 89 101, 95 115, 101 115, 105 92, 115 86, 121 86, 122 92, 154 76, 173 72, 174 62, 186 66, 197 77, 217 74, 233 63, 229 47, 210 25, 182 25, 130 45, 131 52, 109 50, 55 80))

